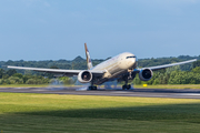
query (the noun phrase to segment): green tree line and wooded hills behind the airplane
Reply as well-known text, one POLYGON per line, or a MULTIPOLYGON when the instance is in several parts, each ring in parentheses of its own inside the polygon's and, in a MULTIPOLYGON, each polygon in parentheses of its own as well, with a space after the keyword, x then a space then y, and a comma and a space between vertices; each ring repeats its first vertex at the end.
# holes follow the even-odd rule
MULTIPOLYGON (((139 59, 138 65, 152 66, 169 64, 191 59, 200 59, 199 57, 180 55, 178 58, 158 58, 158 59, 139 59)), ((93 65, 101 63, 104 60, 92 60, 93 65)), ((77 57, 74 60, 58 60, 58 61, 0 61, 0 84, 47 84, 53 82, 53 74, 28 71, 28 70, 9 70, 4 65, 16 66, 31 66, 31 68, 49 68, 49 69, 69 69, 69 70, 86 70, 87 61, 81 57, 77 57)), ((59 78, 64 84, 72 84, 76 82, 71 78, 59 78)), ((150 81, 143 82, 139 80, 137 75, 133 80, 134 84, 199 84, 200 83, 200 61, 168 68, 153 72, 153 76, 150 81)))

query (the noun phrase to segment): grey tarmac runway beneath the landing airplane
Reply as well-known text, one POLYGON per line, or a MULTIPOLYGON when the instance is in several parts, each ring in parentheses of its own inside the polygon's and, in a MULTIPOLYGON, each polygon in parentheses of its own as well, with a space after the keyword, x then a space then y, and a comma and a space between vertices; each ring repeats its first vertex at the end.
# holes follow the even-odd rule
POLYGON ((191 90, 191 89, 132 89, 132 90, 99 89, 94 91, 91 90, 87 91, 79 88, 0 88, 0 92, 200 99, 200 90, 191 90))

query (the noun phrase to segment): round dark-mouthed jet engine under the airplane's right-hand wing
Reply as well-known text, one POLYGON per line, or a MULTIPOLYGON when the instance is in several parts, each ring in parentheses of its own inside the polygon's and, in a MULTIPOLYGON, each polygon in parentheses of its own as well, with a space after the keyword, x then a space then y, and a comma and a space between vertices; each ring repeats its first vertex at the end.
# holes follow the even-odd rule
POLYGON ((150 69, 143 69, 139 72, 139 78, 141 81, 149 81, 151 80, 152 75, 153 72, 150 69))

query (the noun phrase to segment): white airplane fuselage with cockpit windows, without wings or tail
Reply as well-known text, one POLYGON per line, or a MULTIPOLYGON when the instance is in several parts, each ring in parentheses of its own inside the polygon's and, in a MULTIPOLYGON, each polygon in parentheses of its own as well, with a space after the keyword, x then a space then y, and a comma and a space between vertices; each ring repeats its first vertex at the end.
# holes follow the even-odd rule
POLYGON ((96 65, 92 70, 106 72, 102 79, 99 79, 98 82, 96 82, 96 84, 101 84, 106 81, 118 79, 119 76, 128 73, 130 70, 134 70, 136 68, 136 55, 129 52, 124 52, 96 65))

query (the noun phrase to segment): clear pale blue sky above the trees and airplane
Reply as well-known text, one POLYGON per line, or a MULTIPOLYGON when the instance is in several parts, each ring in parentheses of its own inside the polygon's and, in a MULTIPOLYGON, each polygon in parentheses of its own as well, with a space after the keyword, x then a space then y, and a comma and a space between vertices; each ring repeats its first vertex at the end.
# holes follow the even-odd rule
POLYGON ((0 0, 0 61, 200 54, 200 0, 0 0))

